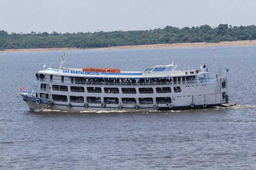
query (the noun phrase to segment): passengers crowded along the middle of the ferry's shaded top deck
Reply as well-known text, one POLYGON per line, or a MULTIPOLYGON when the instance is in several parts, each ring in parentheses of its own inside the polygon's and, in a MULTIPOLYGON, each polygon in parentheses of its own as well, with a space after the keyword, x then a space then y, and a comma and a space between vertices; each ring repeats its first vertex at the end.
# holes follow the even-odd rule
MULTIPOLYGON (((172 82, 172 78, 157 78, 157 79, 107 79, 107 78, 87 78, 87 77, 79 77, 79 81, 81 82, 122 82, 122 83, 144 83, 144 82, 172 82)), ((176 82, 176 80, 174 80, 176 82)))

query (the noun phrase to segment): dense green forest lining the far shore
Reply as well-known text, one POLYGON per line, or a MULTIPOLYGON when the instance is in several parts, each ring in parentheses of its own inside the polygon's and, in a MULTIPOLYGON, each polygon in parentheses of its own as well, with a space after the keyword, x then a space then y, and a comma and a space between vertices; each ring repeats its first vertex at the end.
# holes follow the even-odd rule
POLYGON ((183 42, 221 42, 256 40, 256 26, 220 24, 177 28, 166 26, 154 30, 98 31, 77 33, 34 32, 30 34, 0 31, 0 50, 28 48, 101 48, 123 45, 173 44, 183 42))

